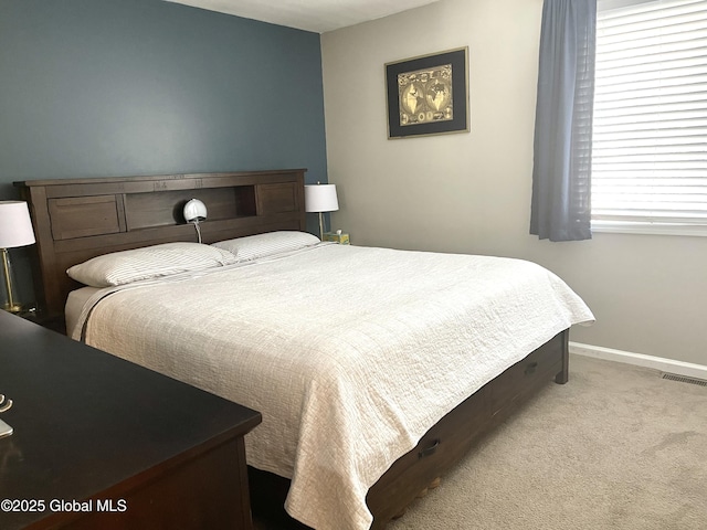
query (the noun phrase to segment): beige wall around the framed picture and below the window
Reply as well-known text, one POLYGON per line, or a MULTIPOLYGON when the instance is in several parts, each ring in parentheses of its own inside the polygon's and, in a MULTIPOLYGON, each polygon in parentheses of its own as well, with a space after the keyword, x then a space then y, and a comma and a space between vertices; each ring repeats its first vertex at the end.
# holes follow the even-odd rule
POLYGON ((359 245, 531 259, 590 305, 571 340, 707 365, 707 237, 528 234, 542 0, 442 0, 321 38, 335 229, 359 245), (387 139, 384 63, 469 49, 471 134, 387 139))

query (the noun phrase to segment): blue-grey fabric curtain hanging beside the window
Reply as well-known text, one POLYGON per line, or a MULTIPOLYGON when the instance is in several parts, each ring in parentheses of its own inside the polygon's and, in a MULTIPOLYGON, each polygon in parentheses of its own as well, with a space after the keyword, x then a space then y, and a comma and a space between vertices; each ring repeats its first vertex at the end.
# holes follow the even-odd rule
POLYGON ((545 0, 536 104, 530 233, 591 237, 597 0, 545 0))

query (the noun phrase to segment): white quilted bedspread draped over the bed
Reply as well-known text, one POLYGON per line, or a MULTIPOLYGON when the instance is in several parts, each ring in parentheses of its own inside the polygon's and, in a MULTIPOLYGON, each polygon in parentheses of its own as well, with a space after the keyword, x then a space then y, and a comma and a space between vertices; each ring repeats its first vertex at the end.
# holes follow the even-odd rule
POLYGON ((86 342, 263 415, 250 465, 287 511, 366 529, 368 488, 442 416, 573 324, 584 303, 529 262, 318 245, 118 290, 86 342))

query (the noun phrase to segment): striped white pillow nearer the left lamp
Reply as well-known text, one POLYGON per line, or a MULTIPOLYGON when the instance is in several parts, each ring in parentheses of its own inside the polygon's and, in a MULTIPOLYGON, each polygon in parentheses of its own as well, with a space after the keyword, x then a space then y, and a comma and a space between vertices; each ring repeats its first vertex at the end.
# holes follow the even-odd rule
POLYGON ((108 287, 235 262, 232 254, 210 245, 163 243, 96 256, 74 265, 66 274, 84 285, 108 287))

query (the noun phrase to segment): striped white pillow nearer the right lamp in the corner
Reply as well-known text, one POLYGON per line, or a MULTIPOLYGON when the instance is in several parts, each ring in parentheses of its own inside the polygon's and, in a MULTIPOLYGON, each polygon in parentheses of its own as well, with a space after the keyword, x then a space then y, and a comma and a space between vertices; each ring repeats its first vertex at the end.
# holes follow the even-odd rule
POLYGON ((231 252, 239 262, 247 262, 281 252, 297 251, 317 243, 319 237, 307 232, 282 231, 220 241, 212 246, 231 252))

